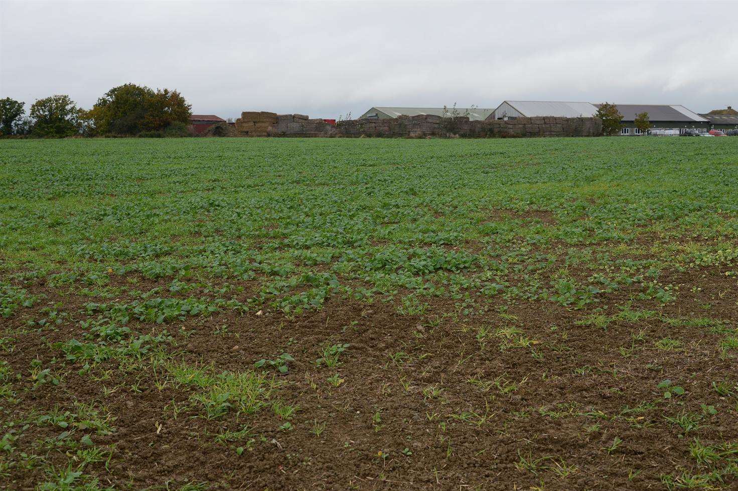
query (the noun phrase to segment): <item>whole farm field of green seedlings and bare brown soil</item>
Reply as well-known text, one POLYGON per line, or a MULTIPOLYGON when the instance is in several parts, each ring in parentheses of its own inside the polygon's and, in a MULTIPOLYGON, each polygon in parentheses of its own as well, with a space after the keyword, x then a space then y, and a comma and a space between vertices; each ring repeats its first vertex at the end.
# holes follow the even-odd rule
POLYGON ((0 141, 0 487, 736 489, 738 138, 0 141))

